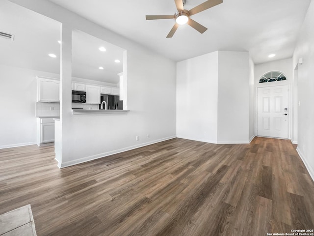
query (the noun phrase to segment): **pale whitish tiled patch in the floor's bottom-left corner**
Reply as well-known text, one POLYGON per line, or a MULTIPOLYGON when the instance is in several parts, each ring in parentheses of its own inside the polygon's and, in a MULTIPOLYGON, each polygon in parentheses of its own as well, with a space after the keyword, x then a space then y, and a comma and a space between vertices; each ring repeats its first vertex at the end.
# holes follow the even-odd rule
POLYGON ((30 205, 0 215, 0 236, 36 236, 30 205))

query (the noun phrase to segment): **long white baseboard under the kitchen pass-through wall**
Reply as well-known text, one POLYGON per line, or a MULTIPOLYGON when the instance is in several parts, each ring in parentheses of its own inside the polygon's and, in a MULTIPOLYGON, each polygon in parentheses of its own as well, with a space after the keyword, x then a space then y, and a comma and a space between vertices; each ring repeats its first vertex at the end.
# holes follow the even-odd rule
POLYGON ((92 155, 92 156, 87 156, 87 157, 83 157, 83 158, 79 158, 77 160, 73 160, 73 161, 67 161, 67 162, 62 162, 62 163, 58 163, 58 167, 59 168, 65 168, 65 167, 69 167, 69 166, 74 166, 83 162, 87 162, 87 161, 92 161, 95 159, 99 159, 105 156, 109 156, 109 155, 113 155, 113 154, 117 154, 120 152, 124 152, 124 151, 129 151, 135 148, 141 148, 141 147, 145 147, 151 144, 156 144, 156 143, 160 143, 162 141, 166 141, 169 139, 174 139, 176 138, 176 136, 170 136, 170 137, 166 137, 166 138, 162 138, 162 139, 158 139, 158 140, 154 140, 151 142, 147 142, 147 143, 143 143, 143 144, 139 144, 139 145, 134 145, 134 146, 130 146, 127 148, 121 148, 121 149, 117 149, 117 150, 112 150, 112 151, 108 151, 108 152, 104 152, 104 153, 100 153, 100 154, 96 154, 96 155, 92 155))

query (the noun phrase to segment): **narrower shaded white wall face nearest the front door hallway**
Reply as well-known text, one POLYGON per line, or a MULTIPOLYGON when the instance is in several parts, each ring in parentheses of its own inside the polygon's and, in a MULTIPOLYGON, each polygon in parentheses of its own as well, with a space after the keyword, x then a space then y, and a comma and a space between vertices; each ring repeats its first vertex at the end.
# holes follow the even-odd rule
POLYGON ((218 143, 249 139, 249 54, 218 52, 218 143))

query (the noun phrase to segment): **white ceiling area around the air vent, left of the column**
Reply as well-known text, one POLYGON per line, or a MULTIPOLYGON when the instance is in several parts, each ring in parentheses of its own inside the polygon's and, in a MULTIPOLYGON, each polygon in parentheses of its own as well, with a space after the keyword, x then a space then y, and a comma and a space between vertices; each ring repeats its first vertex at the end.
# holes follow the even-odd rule
POLYGON ((14 34, 0 38, 0 64, 60 74, 60 23, 0 0, 0 31, 14 34))

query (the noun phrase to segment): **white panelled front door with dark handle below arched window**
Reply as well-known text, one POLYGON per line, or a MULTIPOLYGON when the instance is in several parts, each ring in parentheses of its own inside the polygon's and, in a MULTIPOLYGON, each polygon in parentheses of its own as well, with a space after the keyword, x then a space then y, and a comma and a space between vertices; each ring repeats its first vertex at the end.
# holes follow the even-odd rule
POLYGON ((288 139, 288 85, 257 89, 257 135, 288 139))

